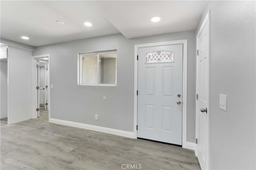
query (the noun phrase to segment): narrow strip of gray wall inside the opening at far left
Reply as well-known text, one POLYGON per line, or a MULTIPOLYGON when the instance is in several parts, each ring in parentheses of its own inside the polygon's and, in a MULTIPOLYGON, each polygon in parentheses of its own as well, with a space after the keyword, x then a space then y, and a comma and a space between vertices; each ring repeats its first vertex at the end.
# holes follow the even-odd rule
POLYGON ((7 117, 7 62, 1 61, 0 62, 0 69, 1 69, 1 89, 0 89, 0 96, 1 96, 1 119, 7 117))

